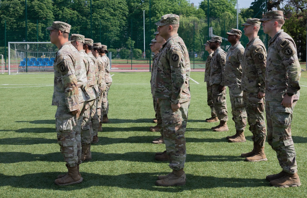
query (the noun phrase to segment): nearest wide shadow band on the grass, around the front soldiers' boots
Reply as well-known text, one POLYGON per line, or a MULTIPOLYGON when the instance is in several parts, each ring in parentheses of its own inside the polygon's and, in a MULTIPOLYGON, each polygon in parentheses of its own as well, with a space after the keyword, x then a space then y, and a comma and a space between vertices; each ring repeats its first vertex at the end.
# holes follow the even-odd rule
POLYGON ((265 179, 256 178, 220 178, 214 176, 197 176, 187 174, 187 182, 184 186, 161 187, 154 183, 158 175, 168 174, 167 172, 141 172, 126 173, 121 175, 100 175, 95 173, 80 173, 83 182, 80 184, 57 186, 54 184, 56 176, 63 174, 61 172, 40 172, 31 173, 21 176, 8 176, 0 174, 2 182, 0 186, 11 186, 16 188, 35 188, 35 189, 52 189, 72 191, 77 189, 89 188, 92 186, 109 186, 129 189, 144 189, 158 192, 182 192, 185 190, 203 189, 203 188, 244 188, 244 187, 261 187, 269 186, 265 179))

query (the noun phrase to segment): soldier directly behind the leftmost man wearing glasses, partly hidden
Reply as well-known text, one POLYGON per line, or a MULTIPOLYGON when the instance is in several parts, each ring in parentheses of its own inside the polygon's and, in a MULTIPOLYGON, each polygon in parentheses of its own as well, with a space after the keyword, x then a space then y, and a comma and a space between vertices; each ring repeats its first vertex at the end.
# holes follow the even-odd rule
POLYGON ((91 142, 93 137, 93 128, 91 123, 91 111, 93 109, 96 94, 94 90, 95 85, 95 66, 90 60, 90 57, 85 53, 84 47, 84 36, 81 34, 72 34, 70 41, 73 46, 80 53, 81 60, 84 63, 86 76, 87 76, 87 86, 86 92, 88 93, 90 99, 87 100, 85 105, 85 110, 83 113, 83 120, 81 125, 81 158, 80 160, 91 160, 91 142))

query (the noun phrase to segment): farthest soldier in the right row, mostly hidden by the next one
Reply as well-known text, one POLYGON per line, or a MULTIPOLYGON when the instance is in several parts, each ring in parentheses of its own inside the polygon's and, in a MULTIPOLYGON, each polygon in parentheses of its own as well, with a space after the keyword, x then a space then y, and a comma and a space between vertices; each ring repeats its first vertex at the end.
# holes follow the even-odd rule
POLYGON ((206 122, 218 122, 219 118, 217 118, 217 115, 214 109, 213 99, 212 99, 212 86, 210 86, 210 63, 211 63, 212 54, 214 51, 210 49, 209 41, 207 41, 206 44, 204 44, 204 46, 205 46, 205 50, 209 53, 207 60, 206 60, 204 82, 207 83, 207 104, 211 109, 211 117, 207 118, 205 121, 206 122))

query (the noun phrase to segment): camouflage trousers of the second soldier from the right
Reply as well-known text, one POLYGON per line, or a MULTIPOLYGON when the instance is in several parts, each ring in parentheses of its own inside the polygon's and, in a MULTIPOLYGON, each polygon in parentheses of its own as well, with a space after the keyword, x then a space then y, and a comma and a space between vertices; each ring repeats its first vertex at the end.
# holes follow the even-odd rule
POLYGON ((243 101, 247 113, 249 130, 253 134, 252 140, 264 147, 266 141, 266 123, 264 119, 264 98, 259 99, 258 93, 243 91, 243 101))

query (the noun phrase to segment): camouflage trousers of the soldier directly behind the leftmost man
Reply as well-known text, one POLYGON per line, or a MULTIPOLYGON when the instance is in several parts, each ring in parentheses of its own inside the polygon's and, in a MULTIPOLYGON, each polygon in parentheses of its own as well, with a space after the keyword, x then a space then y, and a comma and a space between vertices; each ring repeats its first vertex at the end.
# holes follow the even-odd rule
POLYGON ((93 128, 91 122, 91 111, 95 100, 87 101, 83 113, 81 125, 81 145, 89 145, 93 141, 93 128))

